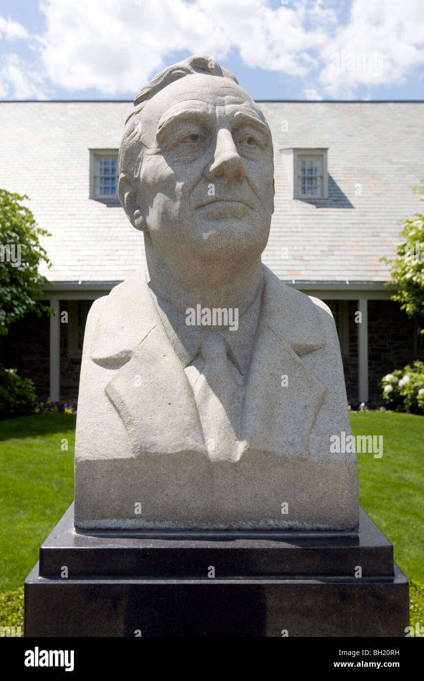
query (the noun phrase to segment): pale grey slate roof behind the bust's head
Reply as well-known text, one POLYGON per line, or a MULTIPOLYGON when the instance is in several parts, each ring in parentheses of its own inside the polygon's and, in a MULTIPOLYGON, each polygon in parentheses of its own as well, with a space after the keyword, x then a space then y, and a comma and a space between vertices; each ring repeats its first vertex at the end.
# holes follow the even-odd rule
MULTIPOLYGON (((276 183, 263 262, 296 283, 387 281, 380 257, 395 252, 397 220, 423 210, 412 187, 424 178, 424 103, 259 106, 274 140, 276 183), (293 200, 281 152, 291 147, 329 148, 327 201, 293 200)), ((29 195, 37 223, 52 234, 44 239, 53 263, 44 273, 52 281, 122 281, 143 262, 142 234, 123 209, 88 198, 88 149, 118 148, 131 107, 130 101, 0 104, 0 187, 29 195)))

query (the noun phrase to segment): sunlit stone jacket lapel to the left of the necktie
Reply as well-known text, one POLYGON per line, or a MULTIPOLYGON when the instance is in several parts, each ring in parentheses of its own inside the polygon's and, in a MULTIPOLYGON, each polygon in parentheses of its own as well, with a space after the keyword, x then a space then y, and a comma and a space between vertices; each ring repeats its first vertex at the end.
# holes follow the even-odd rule
POLYGON ((123 420, 133 455, 206 452, 193 392, 145 274, 131 276, 112 289, 109 298, 91 359, 116 369, 105 393, 123 420))

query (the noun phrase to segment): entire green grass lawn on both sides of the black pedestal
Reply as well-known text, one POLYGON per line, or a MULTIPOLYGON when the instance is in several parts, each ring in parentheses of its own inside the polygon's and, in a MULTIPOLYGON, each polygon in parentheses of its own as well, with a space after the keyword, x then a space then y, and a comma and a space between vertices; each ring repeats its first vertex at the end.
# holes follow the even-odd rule
MULTIPOLYGON (((358 454, 361 505, 409 578, 411 623, 424 623, 424 417, 351 413, 355 435, 382 435, 383 456, 358 454)), ((74 498, 75 417, 0 422, 0 625, 22 622, 22 584, 39 545, 74 498), (68 449, 62 449, 67 439, 68 449)))

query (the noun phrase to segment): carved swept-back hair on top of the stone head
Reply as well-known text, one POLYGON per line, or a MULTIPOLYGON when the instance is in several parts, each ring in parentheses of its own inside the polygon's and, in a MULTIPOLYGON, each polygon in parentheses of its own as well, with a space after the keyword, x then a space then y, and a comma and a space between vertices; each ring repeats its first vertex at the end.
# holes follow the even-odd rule
POLYGON ((118 166, 119 174, 136 177, 140 173, 144 144, 142 142, 141 114, 148 99, 151 99, 164 87, 191 74, 208 74, 209 76, 221 76, 231 78, 238 84, 237 78, 231 72, 221 67, 217 61, 208 54, 195 54, 193 57, 184 59, 178 64, 163 69, 157 76, 140 90, 134 99, 134 108, 125 121, 123 138, 120 142, 118 166))

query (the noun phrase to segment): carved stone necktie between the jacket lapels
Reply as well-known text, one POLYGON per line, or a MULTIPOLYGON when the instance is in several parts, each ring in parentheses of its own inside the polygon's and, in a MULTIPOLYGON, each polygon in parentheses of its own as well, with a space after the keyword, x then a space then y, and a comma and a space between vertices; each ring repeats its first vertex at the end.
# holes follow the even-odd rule
POLYGON ((238 455, 238 390, 227 360, 227 343, 218 332, 210 332, 200 349, 205 362, 195 383, 195 399, 211 461, 236 461, 238 455))

